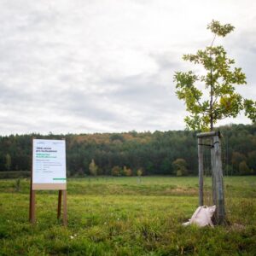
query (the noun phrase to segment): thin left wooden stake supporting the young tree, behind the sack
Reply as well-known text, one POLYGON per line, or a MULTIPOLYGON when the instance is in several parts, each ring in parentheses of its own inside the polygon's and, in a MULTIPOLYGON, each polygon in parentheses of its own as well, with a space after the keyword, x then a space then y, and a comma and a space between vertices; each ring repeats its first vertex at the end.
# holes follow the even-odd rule
POLYGON ((204 177, 203 177, 203 148, 202 148, 202 138, 198 138, 198 177, 199 177, 199 206, 204 205, 204 177))

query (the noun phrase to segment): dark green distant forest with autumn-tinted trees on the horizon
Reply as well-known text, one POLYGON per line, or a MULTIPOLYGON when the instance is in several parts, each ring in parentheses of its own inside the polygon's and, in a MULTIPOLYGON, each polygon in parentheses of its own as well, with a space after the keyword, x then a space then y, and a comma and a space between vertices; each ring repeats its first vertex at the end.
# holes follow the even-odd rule
MULTIPOLYGON (((256 125, 225 125, 222 158, 225 175, 256 174, 256 125)), ((32 166, 32 137, 61 139, 67 143, 67 174, 84 175, 197 175, 195 131, 154 131, 95 134, 40 134, 0 137, 0 172, 29 171, 32 166), (93 160, 93 161, 92 161, 93 160), (140 170, 138 172, 138 170, 140 170)), ((210 142, 205 142, 210 144, 210 142)), ((210 175, 210 147, 204 163, 210 175)))

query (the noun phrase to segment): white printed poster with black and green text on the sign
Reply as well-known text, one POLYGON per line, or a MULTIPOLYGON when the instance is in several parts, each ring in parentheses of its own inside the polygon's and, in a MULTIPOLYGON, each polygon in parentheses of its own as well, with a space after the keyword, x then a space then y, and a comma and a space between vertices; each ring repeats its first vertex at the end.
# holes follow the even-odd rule
MULTIPOLYGON (((65 140, 33 139, 32 184, 65 184, 65 140)), ((53 187, 52 187, 53 188, 53 187)))

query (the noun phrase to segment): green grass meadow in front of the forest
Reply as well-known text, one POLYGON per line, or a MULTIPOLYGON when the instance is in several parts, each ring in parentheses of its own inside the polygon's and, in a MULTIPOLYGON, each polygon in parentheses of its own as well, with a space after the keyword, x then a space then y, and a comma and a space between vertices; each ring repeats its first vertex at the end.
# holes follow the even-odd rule
POLYGON ((229 225, 214 229, 182 226, 198 204, 196 177, 71 178, 67 228, 56 191, 37 193, 28 223, 29 184, 0 180, 0 255, 256 255, 256 177, 224 178, 229 225))

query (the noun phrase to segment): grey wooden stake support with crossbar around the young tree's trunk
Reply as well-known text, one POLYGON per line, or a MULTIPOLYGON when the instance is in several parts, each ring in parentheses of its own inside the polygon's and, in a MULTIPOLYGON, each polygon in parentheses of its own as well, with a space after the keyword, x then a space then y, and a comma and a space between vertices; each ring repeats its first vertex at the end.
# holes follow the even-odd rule
POLYGON ((202 132, 198 138, 198 166, 199 166, 199 205, 203 205, 203 146, 211 147, 212 163, 212 202, 216 205, 216 222, 224 224, 224 183, 221 163, 220 132, 202 132), (212 144, 204 144, 203 139, 210 137, 212 144))

